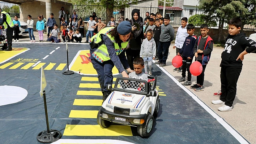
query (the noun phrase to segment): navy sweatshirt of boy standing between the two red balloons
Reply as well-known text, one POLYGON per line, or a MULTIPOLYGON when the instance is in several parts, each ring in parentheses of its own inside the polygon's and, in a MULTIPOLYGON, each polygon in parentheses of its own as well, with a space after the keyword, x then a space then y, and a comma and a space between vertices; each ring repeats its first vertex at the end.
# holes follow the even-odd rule
POLYGON ((183 57, 190 57, 192 59, 194 57, 193 49, 195 47, 195 43, 196 43, 195 35, 187 36, 179 53, 182 54, 183 57))

